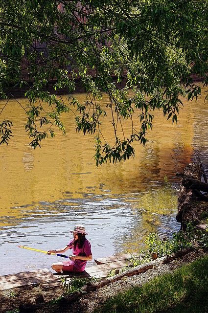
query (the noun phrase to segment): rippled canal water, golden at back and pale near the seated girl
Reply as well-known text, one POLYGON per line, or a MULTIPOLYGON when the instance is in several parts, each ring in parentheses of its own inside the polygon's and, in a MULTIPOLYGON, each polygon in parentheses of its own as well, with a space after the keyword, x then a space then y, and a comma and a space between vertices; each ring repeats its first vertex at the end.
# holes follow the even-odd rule
MULTIPOLYGON (((85 100, 85 94, 75 96, 85 100)), ((65 136, 57 132, 42 142, 41 149, 32 149, 24 130, 25 112, 10 100, 1 113, 1 119, 14 122, 14 137, 8 146, 0 145, 0 275, 50 269, 53 262, 63 261, 18 245, 64 247, 74 224, 86 226, 93 259, 137 251, 152 231, 160 238, 178 231, 176 174, 198 155, 208 174, 204 98, 205 94, 188 103, 183 99, 177 124, 154 112, 149 141, 145 147, 135 144, 135 158, 99 167, 93 159, 93 136, 77 134, 70 114, 63 116, 65 136)), ((18 100, 26 105, 25 99, 18 100)), ((0 108, 4 105, 1 101, 0 108)), ((105 135, 113 137, 112 121, 104 123, 105 135)), ((124 129, 128 130, 125 123, 124 129)))

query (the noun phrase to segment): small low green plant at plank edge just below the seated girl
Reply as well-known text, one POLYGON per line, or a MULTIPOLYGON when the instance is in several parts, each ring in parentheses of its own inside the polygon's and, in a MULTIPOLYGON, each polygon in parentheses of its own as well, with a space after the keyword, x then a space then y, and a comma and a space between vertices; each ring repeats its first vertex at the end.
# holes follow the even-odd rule
POLYGON ((82 291, 82 287, 85 285, 89 285, 92 282, 96 281, 94 277, 72 277, 70 279, 64 277, 61 279, 62 286, 64 287, 66 294, 70 294, 76 291, 82 291))

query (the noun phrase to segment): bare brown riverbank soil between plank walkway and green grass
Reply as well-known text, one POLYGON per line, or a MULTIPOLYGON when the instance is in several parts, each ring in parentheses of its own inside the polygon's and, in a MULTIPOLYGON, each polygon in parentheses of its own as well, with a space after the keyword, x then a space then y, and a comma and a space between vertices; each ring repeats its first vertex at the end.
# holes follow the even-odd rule
POLYGON ((107 298, 115 296, 118 292, 124 292, 131 287, 141 286, 155 276, 170 273, 176 268, 189 264, 205 255, 208 255, 208 250, 205 251, 200 248, 193 249, 186 255, 178 257, 167 264, 162 264, 157 268, 149 269, 139 275, 123 277, 119 281, 110 283, 96 291, 85 293, 81 297, 75 296, 65 306, 59 305, 60 297, 65 295, 65 290, 62 287, 45 289, 41 285, 38 285, 0 291, 0 312, 92 313, 98 305, 102 305, 107 298), (41 303, 38 303, 39 301, 41 303))

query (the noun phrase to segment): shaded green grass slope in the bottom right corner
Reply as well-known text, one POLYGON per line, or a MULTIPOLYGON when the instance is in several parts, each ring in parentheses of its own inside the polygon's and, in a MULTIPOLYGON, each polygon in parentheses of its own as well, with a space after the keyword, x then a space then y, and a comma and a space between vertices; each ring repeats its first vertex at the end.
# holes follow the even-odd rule
POLYGON ((110 298, 95 313, 208 313, 208 256, 110 298))

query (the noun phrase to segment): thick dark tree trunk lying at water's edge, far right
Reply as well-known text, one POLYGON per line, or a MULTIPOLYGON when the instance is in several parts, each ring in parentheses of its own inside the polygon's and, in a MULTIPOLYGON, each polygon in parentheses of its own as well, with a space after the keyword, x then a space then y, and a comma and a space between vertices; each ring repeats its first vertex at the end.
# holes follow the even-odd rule
POLYGON ((189 222, 199 224, 202 212, 207 212, 208 183, 200 162, 188 164, 182 177, 176 220, 181 223, 181 230, 185 230, 189 222), (202 176, 205 182, 201 181, 202 176))

